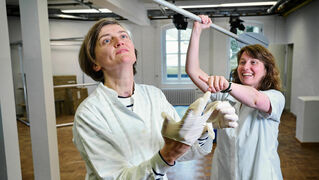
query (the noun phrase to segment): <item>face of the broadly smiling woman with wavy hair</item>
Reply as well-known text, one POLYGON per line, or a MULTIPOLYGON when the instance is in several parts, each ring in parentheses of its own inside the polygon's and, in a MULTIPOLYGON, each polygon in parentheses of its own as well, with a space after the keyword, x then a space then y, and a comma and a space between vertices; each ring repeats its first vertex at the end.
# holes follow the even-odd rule
POLYGON ((258 89, 260 81, 265 77, 267 71, 262 61, 252 58, 244 52, 238 62, 237 73, 242 84, 258 89))

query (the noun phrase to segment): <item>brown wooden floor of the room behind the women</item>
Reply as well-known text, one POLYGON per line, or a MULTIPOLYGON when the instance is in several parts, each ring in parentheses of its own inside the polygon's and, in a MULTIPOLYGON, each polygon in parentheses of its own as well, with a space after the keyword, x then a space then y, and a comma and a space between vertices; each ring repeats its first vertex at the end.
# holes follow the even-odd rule
MULTIPOLYGON (((72 116, 58 118, 58 123, 72 116)), ((284 112, 279 130, 279 156, 284 179, 319 180, 319 145, 301 145, 295 139, 296 118, 284 112)), ((29 127, 18 122, 22 177, 32 180, 33 163, 29 127)), ((85 165, 72 143, 72 126, 57 128, 61 180, 84 179, 85 165)), ((216 144, 214 144, 216 146, 216 144)), ((208 180, 212 153, 199 160, 178 163, 168 172, 170 180, 208 180)))

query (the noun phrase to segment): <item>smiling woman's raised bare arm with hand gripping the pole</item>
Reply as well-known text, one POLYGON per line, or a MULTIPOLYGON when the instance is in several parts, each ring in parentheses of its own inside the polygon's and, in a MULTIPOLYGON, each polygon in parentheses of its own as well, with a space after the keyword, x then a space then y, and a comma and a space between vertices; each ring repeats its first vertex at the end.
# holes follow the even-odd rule
POLYGON ((199 76, 208 78, 208 74, 205 73, 199 66, 199 39, 203 29, 209 28, 212 23, 208 16, 199 16, 203 23, 194 22, 190 42, 187 50, 186 57, 186 73, 189 75, 194 84, 200 88, 203 92, 207 91, 207 84, 199 79, 199 76))

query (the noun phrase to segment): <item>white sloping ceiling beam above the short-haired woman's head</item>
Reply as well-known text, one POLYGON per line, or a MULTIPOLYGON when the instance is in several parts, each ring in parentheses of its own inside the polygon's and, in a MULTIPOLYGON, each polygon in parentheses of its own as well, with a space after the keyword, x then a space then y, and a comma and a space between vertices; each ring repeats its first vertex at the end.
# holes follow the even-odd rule
POLYGON ((139 0, 93 0, 93 5, 107 8, 135 24, 150 25, 144 4, 139 0))

